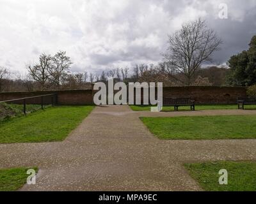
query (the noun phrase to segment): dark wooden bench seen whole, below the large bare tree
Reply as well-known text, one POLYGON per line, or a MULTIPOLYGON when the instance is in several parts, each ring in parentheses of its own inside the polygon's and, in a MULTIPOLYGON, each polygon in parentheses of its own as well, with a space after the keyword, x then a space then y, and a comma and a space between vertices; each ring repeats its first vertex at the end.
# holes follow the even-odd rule
POLYGON ((190 110, 195 110, 195 101, 191 98, 163 98, 163 106, 174 106, 177 111, 179 106, 190 106, 190 110))

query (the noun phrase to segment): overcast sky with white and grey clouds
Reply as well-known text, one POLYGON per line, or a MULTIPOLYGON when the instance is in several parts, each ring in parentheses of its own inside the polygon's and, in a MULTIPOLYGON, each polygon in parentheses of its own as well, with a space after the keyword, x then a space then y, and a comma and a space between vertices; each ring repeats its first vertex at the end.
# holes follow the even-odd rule
POLYGON ((25 73, 44 52, 67 51, 72 71, 161 61, 168 34, 205 18, 222 38, 216 64, 248 48, 256 0, 0 0, 0 66, 25 73), (220 3, 228 19, 220 19, 220 3))

